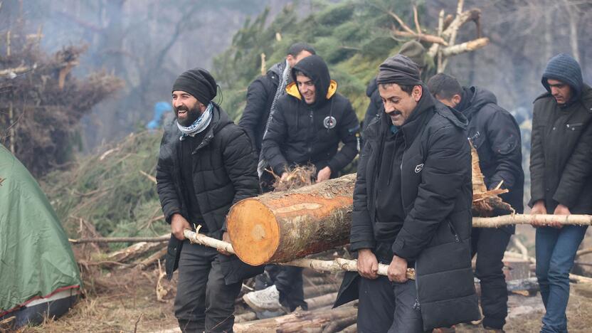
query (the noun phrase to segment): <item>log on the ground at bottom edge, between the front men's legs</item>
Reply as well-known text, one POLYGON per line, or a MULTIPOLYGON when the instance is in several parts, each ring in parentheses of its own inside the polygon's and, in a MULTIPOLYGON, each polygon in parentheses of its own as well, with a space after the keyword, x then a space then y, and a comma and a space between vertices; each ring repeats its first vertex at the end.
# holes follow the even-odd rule
MULTIPOLYGON (((356 304, 356 303, 355 303, 356 304)), ((343 318, 356 317, 357 307, 342 306, 332 310, 296 311, 285 316, 253 320, 234 324, 233 331, 240 332, 309 332, 343 318)))

